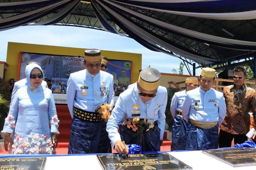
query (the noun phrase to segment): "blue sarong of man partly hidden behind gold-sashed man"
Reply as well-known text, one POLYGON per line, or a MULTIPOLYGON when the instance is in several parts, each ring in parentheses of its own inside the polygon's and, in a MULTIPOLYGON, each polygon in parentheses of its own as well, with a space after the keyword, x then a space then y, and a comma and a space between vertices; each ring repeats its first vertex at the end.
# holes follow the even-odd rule
POLYGON ((185 150, 187 122, 182 116, 176 115, 172 126, 171 151, 185 150))

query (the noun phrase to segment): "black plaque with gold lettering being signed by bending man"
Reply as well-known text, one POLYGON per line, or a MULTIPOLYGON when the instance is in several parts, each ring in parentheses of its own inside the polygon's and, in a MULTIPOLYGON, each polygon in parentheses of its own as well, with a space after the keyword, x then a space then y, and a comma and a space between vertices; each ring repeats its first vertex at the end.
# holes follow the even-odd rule
POLYGON ((168 153, 97 155, 104 170, 178 170, 192 169, 168 153))

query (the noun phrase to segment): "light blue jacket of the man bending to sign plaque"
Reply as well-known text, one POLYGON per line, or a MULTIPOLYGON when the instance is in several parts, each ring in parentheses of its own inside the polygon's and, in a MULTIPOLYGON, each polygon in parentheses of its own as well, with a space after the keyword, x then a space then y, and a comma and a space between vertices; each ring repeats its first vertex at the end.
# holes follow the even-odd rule
POLYGON ((139 97, 138 89, 135 84, 136 83, 130 85, 129 88, 119 96, 111 117, 108 119, 106 130, 112 146, 114 146, 116 141, 121 141, 121 137, 118 133, 118 124, 121 124, 123 117, 131 121, 134 117, 148 119, 148 123, 157 121, 160 129, 160 140, 163 139, 165 109, 167 104, 166 88, 159 86, 156 96, 148 102, 143 102, 139 97), (135 109, 136 105, 134 106, 134 104, 138 104, 137 109, 135 109), (140 114, 140 116, 133 116, 133 114, 140 114))

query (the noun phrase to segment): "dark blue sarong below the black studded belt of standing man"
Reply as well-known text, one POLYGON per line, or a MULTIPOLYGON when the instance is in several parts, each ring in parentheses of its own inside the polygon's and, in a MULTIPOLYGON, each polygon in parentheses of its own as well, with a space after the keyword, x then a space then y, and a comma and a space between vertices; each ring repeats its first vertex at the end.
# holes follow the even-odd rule
POLYGON ((110 140, 106 122, 90 122, 73 118, 68 154, 109 153, 110 140))

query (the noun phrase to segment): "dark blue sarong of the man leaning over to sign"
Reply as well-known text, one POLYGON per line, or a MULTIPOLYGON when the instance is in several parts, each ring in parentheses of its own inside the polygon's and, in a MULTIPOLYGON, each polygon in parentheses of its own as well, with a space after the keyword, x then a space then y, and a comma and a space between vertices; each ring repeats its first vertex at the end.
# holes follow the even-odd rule
MULTIPOLYGON (((153 152, 160 151, 160 129, 158 128, 158 124, 154 123, 154 127, 149 129, 149 131, 145 131, 148 129, 148 125, 145 126, 145 130, 142 135, 142 152, 153 152)), ((137 132, 134 132, 124 125, 121 128, 121 140, 125 141, 126 144, 136 144, 139 143, 139 138, 137 132)))

